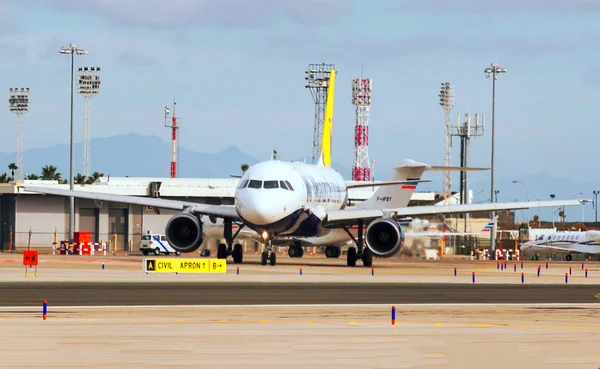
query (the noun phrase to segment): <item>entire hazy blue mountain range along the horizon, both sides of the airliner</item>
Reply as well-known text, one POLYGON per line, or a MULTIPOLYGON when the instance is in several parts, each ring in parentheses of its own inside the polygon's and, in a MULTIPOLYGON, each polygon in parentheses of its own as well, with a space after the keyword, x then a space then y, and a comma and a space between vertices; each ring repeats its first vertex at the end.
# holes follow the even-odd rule
MULTIPOLYGON (((75 174, 82 172, 81 161, 82 144, 75 144, 75 174)), ((15 162, 15 153, 0 152, 0 172, 8 172, 8 164, 15 162)), ((417 158, 413 158, 417 160, 417 158)), ((92 139, 92 171, 116 177, 168 177, 171 161, 171 143, 165 142, 157 136, 144 136, 129 133, 107 138, 92 139)), ((239 175, 240 166, 244 163, 253 165, 259 160, 253 158, 235 146, 229 146, 216 153, 200 153, 184 147, 179 147, 178 177, 182 178, 229 178, 231 174, 239 175)), ((57 145, 48 148, 27 149, 23 152, 23 167, 25 174, 40 174, 41 168, 54 165, 62 174, 68 177, 69 173, 69 146, 57 145)), ((351 179, 350 168, 340 163, 333 163, 347 179, 351 179)), ((387 175, 386 175, 387 177, 387 175)), ((441 179, 434 179, 432 183, 419 186, 419 190, 440 191, 441 179)), ((478 177, 481 178, 481 177, 478 177)), ((458 190, 458 181, 453 182, 453 189, 458 190)), ((473 181, 473 202, 488 202, 490 183, 487 181, 473 181)), ((497 175, 496 189, 499 190, 498 201, 525 201, 550 200, 550 194, 555 194, 556 199, 586 198, 592 199, 592 191, 600 189, 597 182, 578 182, 573 178, 560 177, 547 173, 532 173, 521 178, 507 178, 497 175), (513 183, 518 180, 519 182, 513 183), (581 194, 583 193, 583 194, 581 194)), ((567 209, 567 221, 581 219, 580 209, 567 209)), ((538 214, 538 210, 521 211, 519 214, 531 219, 538 214)), ((543 209, 539 215, 544 220, 552 220, 552 210, 543 209)), ((592 205, 584 206, 584 217, 587 221, 594 219, 592 205)), ((556 219, 558 216, 555 215, 556 219)))

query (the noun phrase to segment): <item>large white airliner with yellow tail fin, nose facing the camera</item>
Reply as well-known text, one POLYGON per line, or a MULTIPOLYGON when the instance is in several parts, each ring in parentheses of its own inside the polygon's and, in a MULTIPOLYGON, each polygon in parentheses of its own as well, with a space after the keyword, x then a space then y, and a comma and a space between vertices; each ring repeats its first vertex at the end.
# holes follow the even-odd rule
MULTIPOLYGON (((325 119, 321 153, 316 164, 304 164, 281 160, 257 163, 243 174, 234 192, 234 205, 209 205, 185 200, 167 200, 137 196, 70 191, 29 185, 18 186, 19 191, 56 196, 86 198, 173 209, 179 212, 166 224, 165 236, 171 246, 183 253, 200 248, 205 238, 202 216, 208 216, 214 224, 223 219, 225 244, 217 248, 217 258, 232 256, 236 264, 243 261, 243 248, 233 245, 242 228, 248 227, 261 235, 265 251, 261 254, 262 265, 276 265, 276 253, 272 242, 280 236, 320 237, 334 229, 348 233, 348 227, 358 227, 356 247, 350 247, 346 264, 354 267, 358 260, 370 267, 373 258, 389 258, 396 255, 404 245, 406 234, 398 220, 412 216, 431 214, 456 214, 476 211, 505 209, 528 209, 531 207, 558 207, 581 205, 578 200, 554 200, 490 204, 432 205, 408 207, 408 201, 427 170, 445 170, 410 159, 402 161, 387 181, 379 182, 379 188, 367 200, 348 206, 348 189, 369 186, 372 183, 349 185, 344 177, 331 168, 331 135, 333 121, 333 97, 335 76, 331 71, 325 107, 325 119), (242 222, 235 234, 233 222, 242 222), (368 227, 364 230, 365 222, 368 227)), ((466 170, 461 168, 461 170, 466 170)))

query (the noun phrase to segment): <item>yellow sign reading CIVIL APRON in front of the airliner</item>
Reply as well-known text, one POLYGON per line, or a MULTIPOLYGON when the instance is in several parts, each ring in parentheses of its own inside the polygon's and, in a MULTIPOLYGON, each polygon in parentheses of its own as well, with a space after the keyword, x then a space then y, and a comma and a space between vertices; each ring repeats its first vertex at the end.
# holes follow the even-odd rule
POLYGON ((225 259, 145 259, 145 272, 153 273, 226 273, 225 259))

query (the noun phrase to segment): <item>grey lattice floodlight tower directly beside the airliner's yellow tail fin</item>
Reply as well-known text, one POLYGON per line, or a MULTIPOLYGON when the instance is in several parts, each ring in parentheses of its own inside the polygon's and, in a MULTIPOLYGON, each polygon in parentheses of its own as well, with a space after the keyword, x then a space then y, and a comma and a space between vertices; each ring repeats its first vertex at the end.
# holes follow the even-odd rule
POLYGON ((313 134, 313 157, 312 163, 319 160, 321 154, 321 140, 323 136, 323 122, 325 121, 325 104, 327 102, 327 91, 329 90, 329 75, 335 70, 334 64, 309 64, 306 73, 306 85, 310 90, 315 102, 315 127, 313 134))

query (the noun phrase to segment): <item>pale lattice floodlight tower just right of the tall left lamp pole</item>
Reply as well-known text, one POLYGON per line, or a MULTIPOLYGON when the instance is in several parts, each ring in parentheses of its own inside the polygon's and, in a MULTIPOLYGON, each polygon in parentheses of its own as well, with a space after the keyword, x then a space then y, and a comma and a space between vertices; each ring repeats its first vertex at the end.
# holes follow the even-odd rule
POLYGON ((78 69, 77 93, 83 96, 83 175, 92 175, 92 97, 100 93, 100 67, 78 69))

